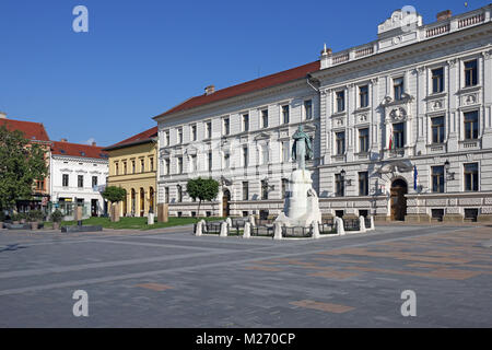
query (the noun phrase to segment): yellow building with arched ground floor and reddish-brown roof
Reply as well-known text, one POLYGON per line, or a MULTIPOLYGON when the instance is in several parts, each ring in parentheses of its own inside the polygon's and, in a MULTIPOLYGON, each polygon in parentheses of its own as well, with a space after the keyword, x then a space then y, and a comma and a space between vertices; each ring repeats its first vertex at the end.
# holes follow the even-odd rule
POLYGON ((156 212, 157 127, 105 148, 109 153, 107 186, 127 190, 121 217, 147 217, 156 212))

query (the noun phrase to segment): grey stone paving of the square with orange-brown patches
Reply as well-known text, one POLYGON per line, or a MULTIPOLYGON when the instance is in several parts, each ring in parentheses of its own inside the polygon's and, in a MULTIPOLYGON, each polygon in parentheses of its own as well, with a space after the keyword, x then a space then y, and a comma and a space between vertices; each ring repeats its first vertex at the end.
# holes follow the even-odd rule
POLYGON ((492 326, 492 226, 289 242, 191 230, 0 230, 0 327, 492 326), (72 314, 77 290, 89 317, 72 314))

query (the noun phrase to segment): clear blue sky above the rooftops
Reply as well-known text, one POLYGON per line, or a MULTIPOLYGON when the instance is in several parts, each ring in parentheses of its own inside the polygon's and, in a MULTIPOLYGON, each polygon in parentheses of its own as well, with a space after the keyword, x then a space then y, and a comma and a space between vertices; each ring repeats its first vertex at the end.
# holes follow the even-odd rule
POLYGON ((410 4, 424 23, 490 2, 1 0, 0 110, 43 122, 52 140, 109 145, 181 101, 376 38, 410 4), (74 33, 72 9, 89 9, 74 33))

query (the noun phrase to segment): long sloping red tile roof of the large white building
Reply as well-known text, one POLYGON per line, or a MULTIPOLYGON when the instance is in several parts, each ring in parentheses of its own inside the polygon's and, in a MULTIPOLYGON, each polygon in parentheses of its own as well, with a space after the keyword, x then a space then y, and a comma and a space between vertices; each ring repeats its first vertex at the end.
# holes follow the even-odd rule
POLYGON ((169 110, 159 115, 157 117, 166 116, 176 112, 191 109, 198 106, 202 106, 212 102, 231 98, 234 96, 247 94, 261 89, 271 88, 274 85, 283 84, 293 80, 305 78, 308 73, 315 72, 320 69, 320 62, 315 61, 289 70, 284 70, 279 73, 255 79, 238 85, 218 90, 209 95, 200 95, 191 97, 184 103, 171 108, 169 110))

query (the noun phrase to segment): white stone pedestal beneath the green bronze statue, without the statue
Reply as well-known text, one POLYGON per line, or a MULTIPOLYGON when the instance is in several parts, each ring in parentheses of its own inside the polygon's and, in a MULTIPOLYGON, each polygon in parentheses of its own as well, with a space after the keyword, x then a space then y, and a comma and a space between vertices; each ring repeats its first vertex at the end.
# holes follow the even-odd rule
POLYGON ((313 221, 321 222, 319 200, 313 188, 311 172, 297 170, 289 180, 289 196, 285 198, 282 213, 276 222, 293 228, 308 228, 313 221))

